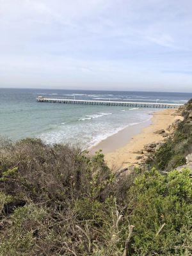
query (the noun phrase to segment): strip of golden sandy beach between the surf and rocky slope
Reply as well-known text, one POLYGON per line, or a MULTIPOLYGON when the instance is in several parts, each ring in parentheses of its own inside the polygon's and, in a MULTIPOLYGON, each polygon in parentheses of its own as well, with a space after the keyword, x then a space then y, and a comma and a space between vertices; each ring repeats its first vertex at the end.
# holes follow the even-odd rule
POLYGON ((155 132, 167 128, 182 116, 177 114, 177 109, 164 109, 153 114, 150 120, 142 124, 132 125, 124 130, 101 141, 91 152, 103 150, 106 162, 110 168, 117 170, 127 166, 138 165, 143 159, 138 159, 138 154, 148 143, 160 143, 165 140, 163 134, 155 132))

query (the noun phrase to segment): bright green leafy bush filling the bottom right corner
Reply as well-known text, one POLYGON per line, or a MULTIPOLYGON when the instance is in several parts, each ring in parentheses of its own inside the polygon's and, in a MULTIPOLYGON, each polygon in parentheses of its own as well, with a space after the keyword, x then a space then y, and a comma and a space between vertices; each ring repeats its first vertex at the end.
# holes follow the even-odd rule
POLYGON ((156 170, 138 177, 127 198, 134 225, 131 255, 192 253, 192 187, 189 171, 156 170))

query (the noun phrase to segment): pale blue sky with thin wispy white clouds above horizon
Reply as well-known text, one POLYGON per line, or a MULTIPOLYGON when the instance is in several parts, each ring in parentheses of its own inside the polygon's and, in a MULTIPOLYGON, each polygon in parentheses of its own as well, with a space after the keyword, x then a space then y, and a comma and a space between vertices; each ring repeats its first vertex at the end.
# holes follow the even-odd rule
POLYGON ((191 0, 0 0, 0 87, 192 92, 191 0))

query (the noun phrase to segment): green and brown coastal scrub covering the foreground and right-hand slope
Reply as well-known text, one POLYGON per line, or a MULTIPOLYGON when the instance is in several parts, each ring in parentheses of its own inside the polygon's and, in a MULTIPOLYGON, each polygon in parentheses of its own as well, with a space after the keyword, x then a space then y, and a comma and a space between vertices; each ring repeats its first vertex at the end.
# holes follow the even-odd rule
MULTIPOLYGON (((154 165, 183 163, 186 125, 154 165)), ((0 153, 0 255, 192 255, 189 170, 114 173, 100 151, 37 139, 1 140, 0 153)))

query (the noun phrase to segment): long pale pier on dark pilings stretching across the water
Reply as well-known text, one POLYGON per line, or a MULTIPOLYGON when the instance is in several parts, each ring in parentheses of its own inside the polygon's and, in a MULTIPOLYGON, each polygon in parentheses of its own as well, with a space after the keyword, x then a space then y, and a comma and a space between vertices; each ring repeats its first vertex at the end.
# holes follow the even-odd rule
POLYGON ((38 102, 52 102, 63 104, 84 104, 84 105, 102 105, 102 106, 120 106, 120 107, 140 107, 140 108, 179 108, 182 104, 172 103, 153 103, 153 102, 128 102, 113 100, 79 100, 79 99, 52 99, 37 97, 38 102))

